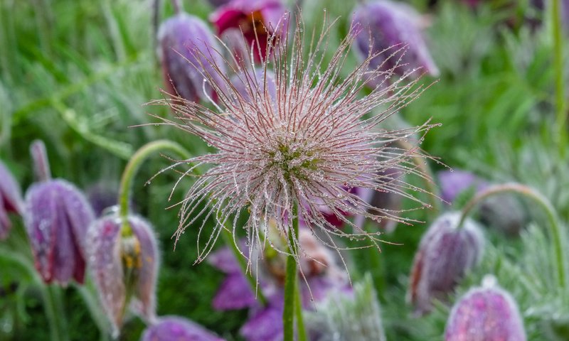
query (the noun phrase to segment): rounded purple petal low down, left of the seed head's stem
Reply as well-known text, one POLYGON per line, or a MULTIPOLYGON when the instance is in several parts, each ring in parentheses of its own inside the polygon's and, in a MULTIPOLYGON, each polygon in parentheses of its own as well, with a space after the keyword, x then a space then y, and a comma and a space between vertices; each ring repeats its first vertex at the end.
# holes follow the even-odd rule
POLYGON ((252 307, 256 303, 247 278, 236 273, 225 278, 212 304, 216 310, 233 310, 252 307))

